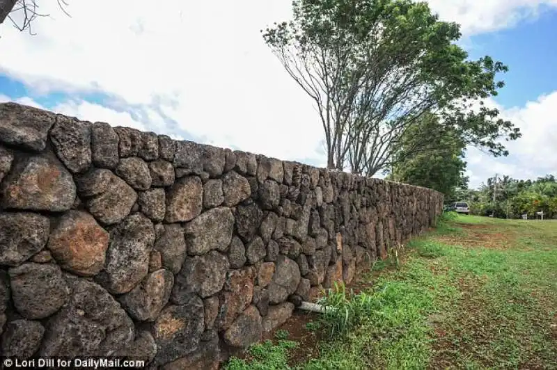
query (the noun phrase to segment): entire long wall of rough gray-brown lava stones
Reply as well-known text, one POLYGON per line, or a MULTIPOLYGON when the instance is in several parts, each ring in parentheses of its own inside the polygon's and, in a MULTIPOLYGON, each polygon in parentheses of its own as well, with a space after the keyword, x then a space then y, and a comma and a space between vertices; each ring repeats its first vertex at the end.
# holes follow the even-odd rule
POLYGON ((430 227, 441 204, 426 188, 0 104, 1 353, 210 369, 430 227))

